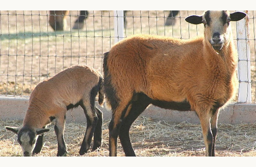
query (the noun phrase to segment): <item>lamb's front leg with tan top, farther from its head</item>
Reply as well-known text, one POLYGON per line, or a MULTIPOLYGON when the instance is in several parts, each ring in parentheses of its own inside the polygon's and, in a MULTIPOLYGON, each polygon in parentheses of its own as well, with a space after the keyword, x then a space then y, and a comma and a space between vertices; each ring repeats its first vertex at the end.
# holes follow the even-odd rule
POLYGON ((54 130, 57 136, 58 141, 58 153, 57 156, 65 156, 67 153, 66 144, 64 141, 64 124, 65 124, 65 115, 60 114, 56 117, 54 130))

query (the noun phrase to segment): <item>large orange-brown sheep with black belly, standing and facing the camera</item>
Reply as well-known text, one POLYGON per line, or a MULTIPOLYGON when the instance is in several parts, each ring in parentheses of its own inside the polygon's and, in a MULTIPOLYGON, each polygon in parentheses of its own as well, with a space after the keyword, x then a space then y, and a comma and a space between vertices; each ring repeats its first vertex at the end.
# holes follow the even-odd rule
POLYGON ((185 19, 203 23, 204 37, 135 35, 104 54, 103 88, 112 108, 110 156, 116 156, 118 136, 125 155, 136 156, 129 129, 149 104, 194 110, 201 122, 206 156, 215 155, 219 109, 237 90, 237 51, 229 22, 245 16, 243 12, 206 11, 185 19))

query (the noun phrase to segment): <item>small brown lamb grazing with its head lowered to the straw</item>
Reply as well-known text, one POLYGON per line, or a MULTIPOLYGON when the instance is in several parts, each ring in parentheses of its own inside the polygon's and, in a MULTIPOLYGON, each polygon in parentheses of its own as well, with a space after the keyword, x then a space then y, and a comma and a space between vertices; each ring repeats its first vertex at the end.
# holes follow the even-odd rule
POLYGON ((103 117, 102 112, 95 106, 95 97, 99 94, 98 103, 102 105, 104 100, 102 83, 103 78, 98 71, 82 65, 68 68, 51 79, 39 83, 30 95, 29 108, 22 128, 5 127, 18 134, 23 156, 31 156, 32 151, 35 154, 41 151, 43 133, 49 131, 46 126, 53 119, 55 119, 54 130, 58 141, 57 156, 65 156, 67 151, 63 134, 66 112, 79 105, 87 118, 87 129, 79 154, 83 155, 88 151, 93 133, 92 149, 100 147, 103 117))

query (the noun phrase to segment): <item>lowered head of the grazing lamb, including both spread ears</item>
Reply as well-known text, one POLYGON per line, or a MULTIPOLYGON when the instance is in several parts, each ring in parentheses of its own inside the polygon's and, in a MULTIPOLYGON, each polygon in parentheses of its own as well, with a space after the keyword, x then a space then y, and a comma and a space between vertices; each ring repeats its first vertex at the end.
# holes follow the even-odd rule
POLYGON ((27 126, 23 126, 22 128, 5 126, 5 128, 18 134, 18 142, 21 145, 23 156, 31 156, 32 151, 35 148, 38 135, 49 131, 49 129, 35 129, 27 126))

